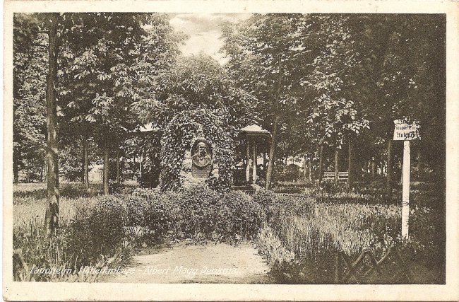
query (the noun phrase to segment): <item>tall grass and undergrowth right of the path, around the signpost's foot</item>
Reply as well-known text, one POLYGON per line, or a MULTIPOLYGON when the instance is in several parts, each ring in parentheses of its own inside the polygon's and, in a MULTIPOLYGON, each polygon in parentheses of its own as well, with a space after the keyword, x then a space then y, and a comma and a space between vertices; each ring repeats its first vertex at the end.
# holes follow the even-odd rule
MULTIPOLYGON (((355 193, 346 194, 349 198, 359 198, 355 193)), ((268 199, 266 194, 258 193, 257 199, 263 198, 268 199)), ((269 228, 262 229, 257 245, 268 258, 271 274, 278 282, 334 283, 338 250, 355 259, 363 249, 372 248, 380 259, 390 246, 396 246, 402 252, 408 265, 414 269, 413 274, 419 265, 431 269, 433 273, 429 276, 421 269, 419 280, 427 283, 441 281, 445 259, 442 252, 444 234, 441 235, 438 211, 425 207, 412 209, 410 240, 403 240, 400 238, 400 207, 355 201, 336 203, 333 200, 333 196, 323 197, 320 203, 301 198, 296 202, 282 197, 271 200, 271 223, 268 223, 269 228), (434 263, 429 263, 431 255, 438 256, 434 263)))

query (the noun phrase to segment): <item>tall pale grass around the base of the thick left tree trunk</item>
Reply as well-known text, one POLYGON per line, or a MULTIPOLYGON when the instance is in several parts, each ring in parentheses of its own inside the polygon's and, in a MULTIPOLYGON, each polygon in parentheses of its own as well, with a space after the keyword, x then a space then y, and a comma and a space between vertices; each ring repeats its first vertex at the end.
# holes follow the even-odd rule
POLYGON ((96 281, 97 272, 80 269, 114 267, 122 265, 128 257, 129 242, 114 246, 107 256, 97 254, 91 258, 86 250, 97 251, 105 243, 91 242, 92 246, 85 248, 76 244, 75 238, 81 237, 82 230, 75 228, 73 219, 81 209, 94 209, 100 203, 98 196, 102 187, 91 185, 86 192, 81 182, 64 182, 60 189, 59 229, 47 236, 44 231, 46 184, 13 185, 13 279, 16 281, 96 281), (33 274, 34 268, 51 269, 54 273, 33 274), (61 273, 55 273, 59 269, 61 273))

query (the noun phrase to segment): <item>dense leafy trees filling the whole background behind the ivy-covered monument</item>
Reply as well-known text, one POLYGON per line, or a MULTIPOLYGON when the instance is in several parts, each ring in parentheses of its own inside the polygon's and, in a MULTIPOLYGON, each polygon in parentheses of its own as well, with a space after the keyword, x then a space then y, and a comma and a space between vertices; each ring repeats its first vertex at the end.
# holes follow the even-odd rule
POLYGON ((349 187, 385 176, 389 192, 400 175, 393 120, 419 120, 417 173, 444 188, 443 15, 254 14, 222 24, 224 66, 182 56, 184 36, 167 15, 16 14, 13 30, 14 181, 47 179, 51 204, 59 168, 88 188, 89 166, 103 162, 106 194, 124 167, 147 168, 157 183, 157 146, 126 134, 143 126, 160 134, 199 108, 233 138, 254 122, 270 130, 268 169, 297 157, 311 180, 334 166, 350 173, 349 187))

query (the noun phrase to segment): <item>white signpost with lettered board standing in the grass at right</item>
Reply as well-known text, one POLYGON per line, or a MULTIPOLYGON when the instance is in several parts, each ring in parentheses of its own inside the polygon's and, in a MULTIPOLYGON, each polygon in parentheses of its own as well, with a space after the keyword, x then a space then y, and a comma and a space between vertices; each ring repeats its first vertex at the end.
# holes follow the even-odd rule
POLYGON ((393 139, 403 141, 403 185, 402 185, 402 237, 408 238, 410 225, 410 141, 419 139, 419 122, 406 120, 395 120, 393 139))

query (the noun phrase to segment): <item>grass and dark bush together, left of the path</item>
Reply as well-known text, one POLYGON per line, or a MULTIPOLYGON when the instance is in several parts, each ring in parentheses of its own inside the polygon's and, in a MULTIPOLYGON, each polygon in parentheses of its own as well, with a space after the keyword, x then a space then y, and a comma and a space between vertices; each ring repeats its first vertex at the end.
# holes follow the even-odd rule
MULTIPOLYGON (((75 185, 75 184, 73 184, 75 185)), ((35 185, 36 187, 36 185, 35 185)), ((68 187, 68 184, 66 184, 68 187)), ((59 229, 47 236, 43 228, 46 199, 28 197, 21 187, 14 195, 13 209, 13 278, 15 281, 96 281, 98 274, 81 270, 86 266, 107 269, 124 265, 129 259, 133 243, 121 235, 124 211, 108 199, 71 197, 62 198, 59 211, 59 229), (19 193, 18 192, 18 193, 19 193), (107 207, 107 210, 104 209, 107 207), (120 219, 121 218, 121 219, 120 219), (119 233, 114 233, 114 232, 119 233), (19 256, 22 255, 25 269, 19 256), (54 273, 37 272, 32 268, 54 270, 54 273), (65 269, 56 273, 55 269, 65 269)), ((78 191, 78 187, 73 188, 78 191)), ((83 188, 80 188, 83 192, 83 188)), ((29 190, 36 194, 37 190, 29 190)))

